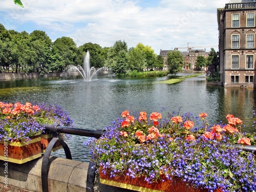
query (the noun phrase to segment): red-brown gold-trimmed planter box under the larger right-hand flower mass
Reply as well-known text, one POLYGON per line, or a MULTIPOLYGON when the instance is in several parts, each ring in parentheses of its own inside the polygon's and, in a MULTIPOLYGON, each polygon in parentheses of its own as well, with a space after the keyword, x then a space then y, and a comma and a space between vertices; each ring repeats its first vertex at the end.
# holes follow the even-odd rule
MULTIPOLYGON (((196 189, 189 186, 188 183, 183 182, 181 179, 167 180, 164 182, 155 182, 152 184, 147 183, 144 177, 131 178, 130 176, 121 175, 119 177, 110 177, 110 175, 104 175, 101 170, 99 172, 100 183, 121 187, 136 191, 145 192, 207 192, 208 189, 196 189)), ((222 190, 217 189, 216 192, 222 190)))

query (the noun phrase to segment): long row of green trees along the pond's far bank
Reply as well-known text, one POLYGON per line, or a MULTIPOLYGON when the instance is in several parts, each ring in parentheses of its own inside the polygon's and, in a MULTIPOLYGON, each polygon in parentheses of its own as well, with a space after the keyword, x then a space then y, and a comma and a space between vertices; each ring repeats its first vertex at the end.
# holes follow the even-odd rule
MULTIPOLYGON (((112 47, 102 48, 87 42, 77 47, 70 37, 60 37, 52 41, 44 32, 7 30, 0 24, 0 73, 3 72, 63 72, 69 65, 82 65, 84 55, 89 50, 91 67, 110 68, 117 75, 127 75, 142 71, 162 70, 163 57, 154 53, 150 46, 139 43, 128 49, 127 43, 117 40, 112 47)), ((171 74, 182 70, 184 63, 180 51, 167 55, 166 65, 171 74)))

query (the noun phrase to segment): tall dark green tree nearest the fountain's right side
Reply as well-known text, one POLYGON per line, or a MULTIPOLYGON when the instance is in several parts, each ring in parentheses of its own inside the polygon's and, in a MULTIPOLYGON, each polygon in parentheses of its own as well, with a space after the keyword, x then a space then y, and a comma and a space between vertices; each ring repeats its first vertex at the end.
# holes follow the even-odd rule
POLYGON ((116 74, 125 74, 127 71, 127 52, 127 43, 117 40, 109 49, 106 67, 109 67, 116 74))

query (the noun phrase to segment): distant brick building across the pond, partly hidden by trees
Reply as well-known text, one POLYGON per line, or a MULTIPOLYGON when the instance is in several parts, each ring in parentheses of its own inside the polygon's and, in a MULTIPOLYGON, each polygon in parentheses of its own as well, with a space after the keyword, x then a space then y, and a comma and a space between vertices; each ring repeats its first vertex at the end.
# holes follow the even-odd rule
MULTIPOLYGON (((160 50, 160 55, 163 57, 164 60, 164 68, 168 69, 166 65, 167 53, 173 50, 160 50)), ((196 67, 196 60, 198 56, 208 56, 208 52, 205 49, 190 49, 189 51, 181 51, 183 58, 184 58, 184 65, 182 66, 184 70, 195 70, 196 67)))

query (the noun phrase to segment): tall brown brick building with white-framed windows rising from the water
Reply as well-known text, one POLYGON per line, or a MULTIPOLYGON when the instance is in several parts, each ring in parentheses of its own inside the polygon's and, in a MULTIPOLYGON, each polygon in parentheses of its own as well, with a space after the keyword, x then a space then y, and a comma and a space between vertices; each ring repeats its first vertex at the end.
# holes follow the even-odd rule
POLYGON ((254 88, 255 16, 253 0, 230 0, 217 10, 220 73, 224 87, 254 88))

